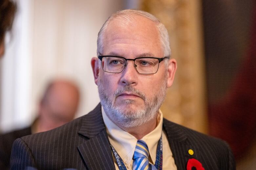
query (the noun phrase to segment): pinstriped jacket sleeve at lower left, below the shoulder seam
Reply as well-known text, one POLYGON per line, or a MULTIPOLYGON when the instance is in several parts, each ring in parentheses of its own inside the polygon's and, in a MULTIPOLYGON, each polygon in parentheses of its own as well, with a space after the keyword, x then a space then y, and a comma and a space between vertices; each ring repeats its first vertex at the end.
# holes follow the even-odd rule
POLYGON ((21 138, 16 139, 12 145, 10 164, 11 170, 36 167, 30 148, 21 138))

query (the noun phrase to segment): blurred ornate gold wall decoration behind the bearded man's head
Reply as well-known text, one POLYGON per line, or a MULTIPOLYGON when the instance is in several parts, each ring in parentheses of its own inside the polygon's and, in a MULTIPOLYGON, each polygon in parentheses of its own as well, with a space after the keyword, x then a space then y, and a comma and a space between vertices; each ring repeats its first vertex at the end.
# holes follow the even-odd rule
POLYGON ((164 117, 207 133, 203 31, 200 0, 141 0, 141 9, 166 26, 178 69, 161 107, 164 117))

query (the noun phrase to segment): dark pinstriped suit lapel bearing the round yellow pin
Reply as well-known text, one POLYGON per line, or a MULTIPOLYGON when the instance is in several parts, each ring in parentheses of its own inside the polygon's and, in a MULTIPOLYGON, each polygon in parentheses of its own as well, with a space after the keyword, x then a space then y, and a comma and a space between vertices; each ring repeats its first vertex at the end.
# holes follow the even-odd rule
POLYGON ((190 144, 183 127, 166 119, 163 120, 163 126, 178 170, 186 169, 187 161, 191 158, 200 160, 199 150, 190 144), (193 150, 193 155, 188 153, 189 149, 193 150))

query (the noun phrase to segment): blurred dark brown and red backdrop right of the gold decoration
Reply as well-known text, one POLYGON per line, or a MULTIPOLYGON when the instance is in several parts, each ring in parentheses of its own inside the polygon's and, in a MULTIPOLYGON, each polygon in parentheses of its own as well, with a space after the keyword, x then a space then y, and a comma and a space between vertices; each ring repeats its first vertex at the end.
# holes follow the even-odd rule
POLYGON ((209 132, 237 160, 256 136, 255 0, 204 0, 209 132))

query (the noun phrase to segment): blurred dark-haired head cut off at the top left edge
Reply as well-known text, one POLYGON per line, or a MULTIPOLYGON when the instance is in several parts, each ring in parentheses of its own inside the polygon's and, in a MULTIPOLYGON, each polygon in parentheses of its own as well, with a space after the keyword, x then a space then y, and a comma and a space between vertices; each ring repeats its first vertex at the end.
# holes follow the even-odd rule
POLYGON ((5 33, 11 30, 16 5, 10 0, 0 0, 0 58, 5 51, 5 33))

